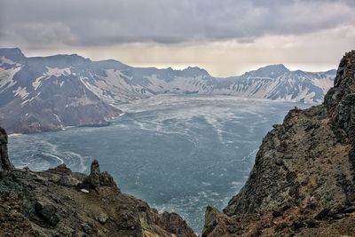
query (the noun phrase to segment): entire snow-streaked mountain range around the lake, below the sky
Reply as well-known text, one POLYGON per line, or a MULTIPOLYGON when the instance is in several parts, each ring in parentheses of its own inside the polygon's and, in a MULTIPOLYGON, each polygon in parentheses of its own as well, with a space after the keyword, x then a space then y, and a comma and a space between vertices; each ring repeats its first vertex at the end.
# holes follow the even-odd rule
POLYGON ((0 49, 0 124, 11 132, 103 124, 122 113, 120 104, 160 93, 319 103, 334 77, 335 70, 310 73, 272 65, 217 78, 199 67, 130 67, 76 54, 27 58, 18 48, 0 49))

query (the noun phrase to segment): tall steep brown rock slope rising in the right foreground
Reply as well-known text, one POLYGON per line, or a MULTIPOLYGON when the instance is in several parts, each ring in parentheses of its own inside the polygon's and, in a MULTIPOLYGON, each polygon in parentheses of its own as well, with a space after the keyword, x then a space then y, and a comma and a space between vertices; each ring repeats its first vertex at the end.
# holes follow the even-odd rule
POLYGON ((289 111, 263 140, 246 185, 203 236, 355 235, 355 51, 325 102, 289 111))

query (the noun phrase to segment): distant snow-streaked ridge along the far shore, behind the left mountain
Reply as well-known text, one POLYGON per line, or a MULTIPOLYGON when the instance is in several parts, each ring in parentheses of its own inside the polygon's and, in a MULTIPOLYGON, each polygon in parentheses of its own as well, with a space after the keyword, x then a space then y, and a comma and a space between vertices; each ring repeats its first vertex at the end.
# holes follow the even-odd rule
POLYGON ((111 104, 160 93, 233 95, 320 103, 327 90, 333 86, 335 77, 335 70, 324 73, 289 71, 283 65, 262 67, 228 78, 212 77, 198 67, 187 67, 182 71, 171 68, 112 67, 103 68, 103 76, 80 77, 89 90, 111 104))

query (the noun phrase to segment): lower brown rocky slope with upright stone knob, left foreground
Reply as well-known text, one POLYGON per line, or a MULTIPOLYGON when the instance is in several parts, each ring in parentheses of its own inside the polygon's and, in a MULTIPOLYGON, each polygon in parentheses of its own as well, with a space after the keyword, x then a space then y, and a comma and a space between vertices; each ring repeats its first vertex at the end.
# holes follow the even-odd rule
POLYGON ((0 236, 195 236, 177 214, 122 194, 97 161, 89 176, 13 169, 6 144, 0 128, 0 236))

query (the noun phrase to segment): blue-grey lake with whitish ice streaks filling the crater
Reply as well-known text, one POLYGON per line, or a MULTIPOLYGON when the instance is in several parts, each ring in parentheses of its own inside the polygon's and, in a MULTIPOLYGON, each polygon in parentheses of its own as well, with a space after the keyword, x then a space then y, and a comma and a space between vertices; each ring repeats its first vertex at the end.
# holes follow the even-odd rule
POLYGON ((207 205, 223 209, 248 178, 256 151, 288 110, 309 105, 227 96, 156 96, 123 105, 102 128, 10 137, 17 167, 62 162, 89 172, 97 158, 122 192, 185 217, 201 233, 207 205))

